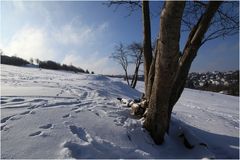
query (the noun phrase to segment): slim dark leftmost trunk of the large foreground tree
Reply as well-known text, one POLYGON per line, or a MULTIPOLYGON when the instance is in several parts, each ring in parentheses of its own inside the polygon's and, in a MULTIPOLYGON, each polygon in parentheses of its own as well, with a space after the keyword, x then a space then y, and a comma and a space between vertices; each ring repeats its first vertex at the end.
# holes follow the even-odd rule
POLYGON ((151 24, 148 1, 142 2, 142 19, 143 19, 144 82, 145 93, 147 93, 148 73, 152 63, 151 24))

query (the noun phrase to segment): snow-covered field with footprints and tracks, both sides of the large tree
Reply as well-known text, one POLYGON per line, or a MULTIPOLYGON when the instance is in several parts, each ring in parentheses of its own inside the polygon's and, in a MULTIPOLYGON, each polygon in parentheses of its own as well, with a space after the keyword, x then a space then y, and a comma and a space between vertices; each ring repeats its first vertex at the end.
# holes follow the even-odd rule
POLYGON ((155 145, 120 79, 1 65, 1 158, 239 158, 239 98, 185 89, 155 145), (192 146, 183 144, 184 133, 192 146))

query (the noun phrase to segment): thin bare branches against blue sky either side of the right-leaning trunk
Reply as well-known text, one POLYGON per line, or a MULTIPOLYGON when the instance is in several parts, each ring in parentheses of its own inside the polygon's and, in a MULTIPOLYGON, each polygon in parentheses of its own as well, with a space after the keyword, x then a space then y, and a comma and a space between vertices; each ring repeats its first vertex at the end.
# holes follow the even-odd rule
MULTIPOLYGON (((203 15, 207 3, 203 1, 187 2, 182 19, 182 31, 190 31, 196 20, 203 15)), ((202 45, 219 37, 232 36, 239 32, 238 2, 223 2, 210 23, 202 45)))

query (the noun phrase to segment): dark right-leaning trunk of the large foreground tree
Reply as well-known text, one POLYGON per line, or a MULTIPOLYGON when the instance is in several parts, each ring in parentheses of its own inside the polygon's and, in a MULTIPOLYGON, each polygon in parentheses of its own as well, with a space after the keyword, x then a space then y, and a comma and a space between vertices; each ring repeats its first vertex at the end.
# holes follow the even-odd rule
POLYGON ((222 2, 220 1, 218 2, 210 1, 205 13, 201 16, 198 23, 194 26, 194 28, 192 29, 188 36, 187 43, 183 50, 183 56, 179 60, 178 69, 175 75, 175 79, 173 81, 173 88, 170 97, 168 111, 169 121, 171 118, 173 106, 176 104, 177 100, 180 98, 183 92, 191 64, 197 55, 198 49, 202 45, 204 34, 207 32, 210 22, 214 14, 217 12, 221 3, 222 2))

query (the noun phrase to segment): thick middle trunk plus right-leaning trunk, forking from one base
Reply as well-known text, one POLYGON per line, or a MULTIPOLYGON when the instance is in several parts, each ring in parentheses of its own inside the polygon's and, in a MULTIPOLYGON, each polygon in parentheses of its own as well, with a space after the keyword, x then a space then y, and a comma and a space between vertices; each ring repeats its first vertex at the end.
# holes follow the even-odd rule
POLYGON ((164 141, 173 106, 184 89, 191 63, 220 4, 221 2, 209 2, 205 13, 189 34, 182 57, 179 54, 179 40, 185 2, 167 1, 164 4, 155 56, 155 76, 144 122, 144 127, 156 144, 164 141))

